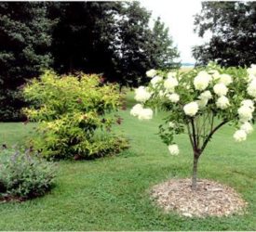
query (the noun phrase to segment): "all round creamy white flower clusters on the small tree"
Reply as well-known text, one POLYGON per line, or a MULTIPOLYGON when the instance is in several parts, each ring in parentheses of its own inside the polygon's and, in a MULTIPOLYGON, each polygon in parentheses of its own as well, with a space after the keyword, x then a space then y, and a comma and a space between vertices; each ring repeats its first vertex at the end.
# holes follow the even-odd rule
MULTIPOLYGON (((233 135, 237 142, 245 141, 247 135, 253 131, 251 120, 255 110, 254 101, 256 101, 256 65, 251 65, 247 71, 247 93, 254 100, 244 99, 237 109, 240 124, 233 135)), ((139 120, 152 119, 153 110, 143 108, 143 104, 153 96, 153 92, 156 94, 154 96, 160 97, 160 100, 163 97, 172 104, 177 104, 176 106, 182 106, 183 113, 188 117, 195 117, 198 111, 203 113, 209 103, 215 104, 219 110, 233 110, 233 99, 230 96, 234 93, 232 86, 236 86, 236 84, 233 85, 234 80, 236 80, 235 76, 217 70, 199 71, 192 82, 186 82, 185 79, 177 75, 177 72, 173 71, 168 72, 166 78, 159 75, 159 72, 155 70, 147 71, 146 75, 152 78, 151 85, 149 88, 140 86, 135 90, 135 99, 141 104, 135 105, 130 110, 130 114, 138 117, 139 120), (182 89, 184 92, 180 93, 177 89, 179 91, 182 89), (193 97, 196 93, 198 97, 192 98, 193 100, 190 102, 183 102, 182 97, 186 96, 184 94, 186 92, 191 93, 193 97)), ((187 99, 191 98, 187 97, 187 99)), ((169 122, 168 125, 170 128, 174 128, 176 122, 169 122)), ((178 155, 180 152, 177 144, 170 144, 168 150, 172 155, 178 155)))

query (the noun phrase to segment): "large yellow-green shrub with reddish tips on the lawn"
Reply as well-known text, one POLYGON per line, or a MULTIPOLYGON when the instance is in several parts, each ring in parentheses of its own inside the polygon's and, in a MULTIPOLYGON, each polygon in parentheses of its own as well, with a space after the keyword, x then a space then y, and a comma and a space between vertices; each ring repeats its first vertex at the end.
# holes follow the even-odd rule
POLYGON ((24 112, 40 122, 32 146, 47 158, 93 158, 127 147, 125 139, 110 133, 120 122, 112 112, 121 97, 115 84, 101 84, 98 75, 58 76, 46 71, 24 87, 32 107, 24 112))

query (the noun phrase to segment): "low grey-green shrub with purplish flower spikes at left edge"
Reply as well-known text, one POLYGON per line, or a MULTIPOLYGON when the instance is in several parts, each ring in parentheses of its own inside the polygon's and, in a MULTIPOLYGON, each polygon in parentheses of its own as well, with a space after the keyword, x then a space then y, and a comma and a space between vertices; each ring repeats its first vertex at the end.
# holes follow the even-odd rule
POLYGON ((52 186, 55 166, 32 155, 29 150, 0 152, 0 195, 31 199, 44 195, 52 186))

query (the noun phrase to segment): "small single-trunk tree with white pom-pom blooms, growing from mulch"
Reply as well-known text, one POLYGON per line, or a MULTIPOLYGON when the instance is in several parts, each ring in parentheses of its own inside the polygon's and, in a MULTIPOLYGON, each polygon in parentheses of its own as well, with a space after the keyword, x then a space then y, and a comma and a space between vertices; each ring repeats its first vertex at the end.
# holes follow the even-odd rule
POLYGON ((236 127, 237 142, 252 132, 256 100, 256 65, 249 69, 222 69, 214 63, 192 71, 147 71, 148 86, 135 90, 130 114, 139 120, 153 117, 152 107, 168 111, 159 135, 172 155, 179 154, 174 135, 187 133, 193 148, 192 189, 196 189, 197 164, 209 140, 224 124, 236 127))

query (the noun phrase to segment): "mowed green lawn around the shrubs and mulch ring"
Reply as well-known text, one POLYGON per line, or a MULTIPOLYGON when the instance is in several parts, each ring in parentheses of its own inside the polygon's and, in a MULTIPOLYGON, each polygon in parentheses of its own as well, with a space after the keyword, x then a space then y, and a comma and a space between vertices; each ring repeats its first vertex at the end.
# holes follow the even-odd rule
MULTIPOLYGON (((128 107, 133 104, 128 95, 128 107)), ((129 110, 129 109, 128 109, 129 110)), ((237 144, 225 126, 199 162, 199 177, 234 187, 249 202, 245 215, 205 219, 163 213, 149 189, 169 178, 191 175, 192 150, 186 135, 177 142, 181 155, 170 156, 161 142, 158 113, 139 122, 120 111, 115 128, 130 140, 120 155, 96 161, 61 161, 56 187, 47 196, 22 203, 0 203, 1 230, 256 230, 256 134, 237 144)), ((1 123, 1 143, 22 145, 35 124, 1 123)))

